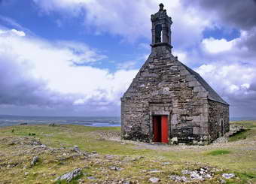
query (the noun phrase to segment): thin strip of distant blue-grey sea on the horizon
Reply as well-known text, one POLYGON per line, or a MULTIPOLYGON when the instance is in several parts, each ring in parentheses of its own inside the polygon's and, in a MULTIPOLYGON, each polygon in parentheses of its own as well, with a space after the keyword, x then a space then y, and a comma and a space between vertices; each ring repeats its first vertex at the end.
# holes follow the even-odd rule
POLYGON ((120 126, 120 117, 69 117, 69 116, 9 116, 0 115, 0 127, 20 125, 27 123, 28 125, 35 124, 72 124, 85 126, 120 126))

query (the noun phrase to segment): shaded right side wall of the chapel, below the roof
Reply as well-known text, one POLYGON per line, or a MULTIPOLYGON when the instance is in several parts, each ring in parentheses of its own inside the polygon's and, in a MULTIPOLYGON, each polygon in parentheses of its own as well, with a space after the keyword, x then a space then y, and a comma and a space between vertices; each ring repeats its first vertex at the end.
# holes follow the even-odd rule
POLYGON ((211 141, 230 131, 229 106, 209 100, 209 134, 211 141))

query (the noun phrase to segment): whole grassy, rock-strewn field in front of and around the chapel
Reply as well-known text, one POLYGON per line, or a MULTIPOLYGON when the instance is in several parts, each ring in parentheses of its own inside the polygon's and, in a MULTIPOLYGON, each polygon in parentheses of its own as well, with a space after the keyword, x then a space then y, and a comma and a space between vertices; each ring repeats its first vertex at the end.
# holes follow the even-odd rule
POLYGON ((256 122, 232 122, 246 130, 228 143, 209 146, 168 146, 120 140, 120 128, 81 125, 18 125, 0 128, 0 183, 65 183, 63 173, 82 168, 72 183, 175 183, 181 170, 208 168, 205 181, 221 183, 222 173, 235 173, 226 183, 256 183, 256 122), (46 146, 34 145, 37 141, 46 146), (82 154, 74 152, 78 146, 82 154), (33 156, 39 161, 31 165, 33 156), (117 169, 113 169, 117 167, 117 169), (119 169, 120 168, 120 169, 119 169))

